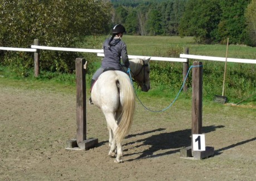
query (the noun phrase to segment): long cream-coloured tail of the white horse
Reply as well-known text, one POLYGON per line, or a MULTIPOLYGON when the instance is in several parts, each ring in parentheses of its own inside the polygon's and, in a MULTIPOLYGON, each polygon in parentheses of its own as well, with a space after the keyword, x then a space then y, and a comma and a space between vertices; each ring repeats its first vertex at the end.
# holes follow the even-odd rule
POLYGON ((116 78, 116 82, 119 84, 119 98, 122 113, 120 115, 121 118, 118 128, 115 132, 115 138, 117 142, 121 142, 131 128, 135 109, 135 93, 129 78, 119 74, 116 78))

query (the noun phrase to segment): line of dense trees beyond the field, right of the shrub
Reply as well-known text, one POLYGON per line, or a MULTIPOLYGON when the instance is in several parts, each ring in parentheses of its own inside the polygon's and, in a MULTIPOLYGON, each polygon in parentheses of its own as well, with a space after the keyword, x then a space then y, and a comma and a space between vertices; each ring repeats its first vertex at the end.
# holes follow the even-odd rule
POLYGON ((199 43, 256 46, 255 0, 112 0, 112 23, 128 34, 194 36, 199 43))

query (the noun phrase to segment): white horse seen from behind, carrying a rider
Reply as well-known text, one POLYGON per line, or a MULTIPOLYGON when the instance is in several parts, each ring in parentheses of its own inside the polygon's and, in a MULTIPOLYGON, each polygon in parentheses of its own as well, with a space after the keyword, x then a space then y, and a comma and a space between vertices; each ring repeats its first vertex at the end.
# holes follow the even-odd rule
MULTIPOLYGON (((144 92, 150 89, 149 59, 130 60, 131 76, 144 92)), ((121 71, 102 73, 92 87, 91 98, 107 121, 109 156, 115 157, 116 154, 115 163, 121 163, 121 142, 131 128, 135 109, 135 94, 130 77, 121 71)))

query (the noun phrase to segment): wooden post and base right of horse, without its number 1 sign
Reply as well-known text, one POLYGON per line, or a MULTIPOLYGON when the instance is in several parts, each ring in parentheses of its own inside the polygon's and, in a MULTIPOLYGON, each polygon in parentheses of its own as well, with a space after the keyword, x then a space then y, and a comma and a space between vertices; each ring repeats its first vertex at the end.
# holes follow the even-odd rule
MULTIPOLYGON (((203 109, 203 63, 193 62, 192 72, 192 121, 191 135, 202 134, 202 109, 203 109)), ((192 138, 192 137, 191 137, 192 138)), ((204 159, 214 155, 213 147, 205 147, 205 151, 194 151, 191 146, 180 150, 180 157, 204 159)))

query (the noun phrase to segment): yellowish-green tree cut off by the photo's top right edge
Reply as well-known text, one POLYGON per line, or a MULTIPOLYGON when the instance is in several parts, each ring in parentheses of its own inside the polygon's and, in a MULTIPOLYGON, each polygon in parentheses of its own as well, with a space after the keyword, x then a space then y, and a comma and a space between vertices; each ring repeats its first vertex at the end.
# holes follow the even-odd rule
POLYGON ((252 0, 245 10, 247 23, 247 43, 250 46, 256 46, 256 0, 252 0))

